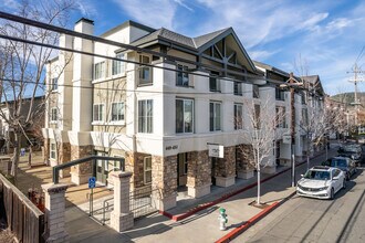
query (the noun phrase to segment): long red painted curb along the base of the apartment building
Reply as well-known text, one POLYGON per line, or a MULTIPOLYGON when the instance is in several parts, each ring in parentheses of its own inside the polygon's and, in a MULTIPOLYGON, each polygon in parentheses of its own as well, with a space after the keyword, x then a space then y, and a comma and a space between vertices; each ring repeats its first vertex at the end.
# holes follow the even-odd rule
MULTIPOLYGON (((317 157, 320 157, 320 156, 322 156, 322 154, 315 155, 315 156, 312 157, 311 159, 315 159, 315 158, 317 158, 317 157)), ((302 165, 304 165, 304 163, 306 163, 306 160, 296 163, 295 167, 300 167, 300 166, 302 166, 302 165)), ((289 170, 291 170, 291 167, 289 167, 289 168, 282 170, 282 171, 280 171, 280 172, 278 172, 278 173, 274 173, 274 175, 272 175, 272 176, 270 176, 270 177, 268 177, 268 178, 264 178, 264 179, 262 179, 260 182, 263 183, 263 182, 265 182, 265 181, 268 181, 268 180, 271 180, 272 178, 278 177, 278 176, 280 176, 280 175, 282 175, 282 173, 284 173, 284 172, 286 172, 286 171, 289 171, 289 170)), ((196 208, 192 208, 192 209, 190 209, 190 210, 188 210, 187 212, 181 213, 181 214, 174 215, 174 214, 171 214, 171 213, 169 213, 169 212, 161 211, 161 210, 158 211, 158 212, 159 212, 160 214, 163 214, 163 215, 169 218, 170 220, 177 222, 177 221, 184 220, 184 219, 186 219, 186 218, 189 218, 189 216, 191 216, 192 214, 195 214, 195 213, 197 213, 197 212, 199 212, 199 211, 201 211, 201 210, 205 210, 205 209, 208 209, 208 208, 210 208, 210 207, 212 207, 212 205, 216 205, 216 204, 218 204, 218 203, 225 201, 226 199, 229 199, 229 198, 231 198, 231 197, 233 197, 233 196, 237 196, 237 194, 239 194, 239 193, 241 193, 241 192, 243 192, 243 191, 247 191, 247 190, 249 190, 249 189, 255 187, 257 184, 258 184, 258 182, 253 182, 253 183, 251 183, 251 184, 249 184, 249 186, 247 186, 247 187, 244 187, 244 188, 241 188, 241 189, 239 189, 239 190, 237 190, 237 191, 232 191, 231 193, 225 194, 225 196, 222 196, 222 197, 220 197, 220 198, 218 198, 218 199, 216 199, 216 200, 213 200, 213 201, 211 201, 211 202, 207 202, 207 203, 205 203, 205 204, 201 204, 201 205, 198 205, 198 207, 196 207, 196 208)))

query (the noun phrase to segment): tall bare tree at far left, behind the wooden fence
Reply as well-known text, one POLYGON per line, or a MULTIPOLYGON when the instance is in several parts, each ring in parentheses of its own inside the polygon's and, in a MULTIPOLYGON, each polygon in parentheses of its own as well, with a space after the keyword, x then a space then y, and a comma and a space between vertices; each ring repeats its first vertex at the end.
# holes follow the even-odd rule
MULTIPOLYGON (((25 0, 18 4, 17 15, 65 27, 73 4, 73 0, 25 0)), ((12 21, 2 21, 0 32, 4 35, 51 45, 58 44, 60 36, 59 33, 49 30, 12 21)), ((11 175, 15 181, 21 137, 34 125, 33 118, 39 112, 34 105, 34 98, 44 94, 44 66, 51 54, 52 50, 48 47, 10 40, 0 42, 0 102, 6 104, 9 110, 8 115, 0 112, 0 116, 14 133, 11 175), (27 109, 23 105, 24 97, 30 98, 27 109)))

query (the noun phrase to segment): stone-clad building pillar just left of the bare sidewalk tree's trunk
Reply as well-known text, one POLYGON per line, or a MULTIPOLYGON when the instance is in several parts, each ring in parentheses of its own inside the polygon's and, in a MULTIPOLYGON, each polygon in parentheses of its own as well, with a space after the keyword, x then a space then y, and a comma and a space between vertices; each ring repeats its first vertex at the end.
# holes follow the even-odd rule
POLYGON ((241 179, 250 179, 253 177, 253 154, 252 147, 249 145, 237 146, 237 177, 241 179))

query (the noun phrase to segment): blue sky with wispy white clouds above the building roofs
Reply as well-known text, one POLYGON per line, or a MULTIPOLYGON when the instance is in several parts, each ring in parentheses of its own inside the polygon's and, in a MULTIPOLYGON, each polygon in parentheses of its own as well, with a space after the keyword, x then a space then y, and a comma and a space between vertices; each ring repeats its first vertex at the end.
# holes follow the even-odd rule
POLYGON ((296 75, 305 66, 333 95, 354 89, 355 62, 365 70, 364 12, 362 0, 77 0, 70 23, 92 19, 97 35, 134 20, 191 38, 232 27, 252 60, 296 75))

